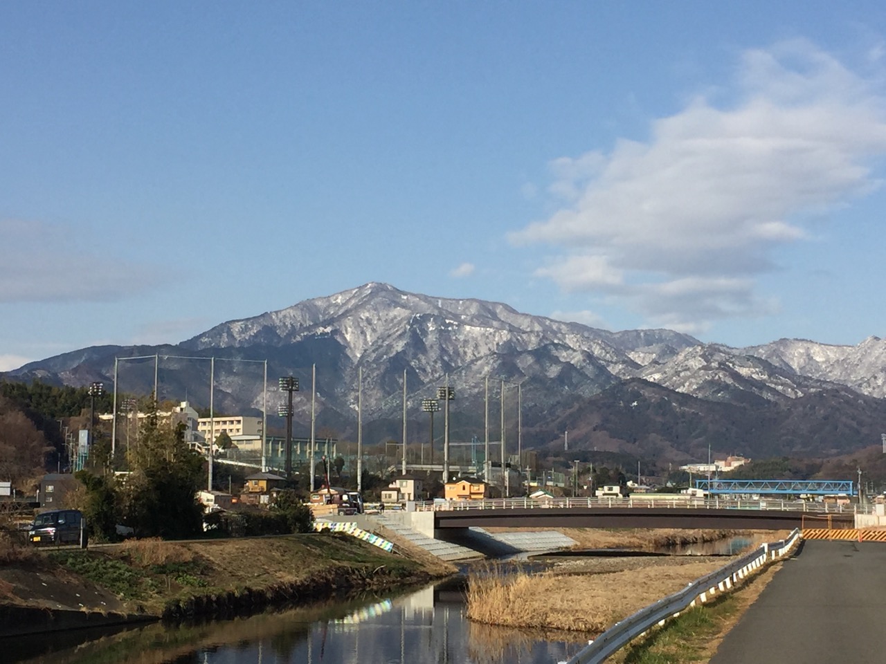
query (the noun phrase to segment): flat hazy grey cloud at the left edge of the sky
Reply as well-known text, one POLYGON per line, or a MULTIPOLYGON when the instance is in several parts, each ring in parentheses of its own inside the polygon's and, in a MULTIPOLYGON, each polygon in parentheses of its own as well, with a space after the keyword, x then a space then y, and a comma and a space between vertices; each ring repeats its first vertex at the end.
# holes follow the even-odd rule
POLYGON ((0 237, 0 303, 107 301, 169 278, 168 271, 83 249, 82 231, 74 228, 0 220, 0 237))

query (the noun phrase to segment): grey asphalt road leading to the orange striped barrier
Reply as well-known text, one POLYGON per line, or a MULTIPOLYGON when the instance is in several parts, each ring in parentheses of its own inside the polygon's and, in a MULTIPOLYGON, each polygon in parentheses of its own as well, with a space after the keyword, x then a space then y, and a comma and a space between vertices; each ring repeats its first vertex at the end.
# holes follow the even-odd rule
POLYGON ((786 560, 710 664, 886 660, 886 543, 810 540, 786 560))

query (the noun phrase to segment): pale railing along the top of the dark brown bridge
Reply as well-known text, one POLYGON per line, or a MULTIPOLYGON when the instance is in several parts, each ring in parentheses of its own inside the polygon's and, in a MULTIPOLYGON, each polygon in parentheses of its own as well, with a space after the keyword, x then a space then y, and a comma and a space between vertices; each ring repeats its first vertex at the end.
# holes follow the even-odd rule
POLYGON ((809 502, 807 500, 778 500, 760 498, 757 500, 736 500, 733 498, 692 498, 679 494, 661 494, 659 497, 643 498, 484 498, 482 500, 447 500, 416 502, 416 511, 447 510, 503 510, 503 509, 550 509, 577 507, 644 507, 680 509, 738 509, 776 510, 781 512, 803 512, 813 514, 856 514, 871 513, 872 506, 839 505, 833 503, 809 502), (675 496, 677 496, 675 498, 675 496))

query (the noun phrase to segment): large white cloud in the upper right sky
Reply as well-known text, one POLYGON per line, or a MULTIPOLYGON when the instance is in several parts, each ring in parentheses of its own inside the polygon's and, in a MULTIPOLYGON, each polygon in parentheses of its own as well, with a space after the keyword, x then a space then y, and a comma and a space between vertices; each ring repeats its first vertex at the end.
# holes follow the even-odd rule
POLYGON ((560 209, 509 238, 561 250, 536 274, 696 332, 772 313, 754 290, 773 249, 880 185, 886 100, 804 41, 744 53, 732 92, 729 107, 697 97, 655 120, 646 143, 556 159, 560 209))

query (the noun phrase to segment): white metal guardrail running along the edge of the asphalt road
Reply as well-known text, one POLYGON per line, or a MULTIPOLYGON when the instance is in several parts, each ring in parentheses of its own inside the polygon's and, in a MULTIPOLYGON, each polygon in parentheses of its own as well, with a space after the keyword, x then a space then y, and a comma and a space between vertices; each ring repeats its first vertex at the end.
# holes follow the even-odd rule
POLYGON ((681 611, 690 606, 696 606, 696 602, 704 603, 711 595, 729 590, 734 583, 762 567, 766 562, 781 558, 785 553, 790 552, 799 539, 800 531, 796 529, 787 539, 763 544, 726 567, 720 567, 711 574, 690 583, 683 590, 659 599, 655 604, 615 623, 575 654, 566 664, 599 664, 613 652, 623 648, 634 638, 642 636, 652 627, 663 625, 668 618, 680 615, 681 611))

